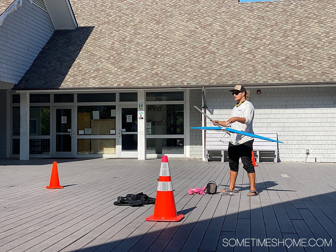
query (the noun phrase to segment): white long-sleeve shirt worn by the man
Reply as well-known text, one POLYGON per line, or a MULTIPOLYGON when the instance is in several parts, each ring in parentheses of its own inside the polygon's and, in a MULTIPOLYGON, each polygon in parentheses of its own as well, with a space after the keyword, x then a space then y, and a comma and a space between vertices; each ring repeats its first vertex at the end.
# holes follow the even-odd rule
MULTIPOLYGON (((252 103, 249 102, 248 100, 245 100, 238 107, 235 106, 232 110, 231 117, 236 117, 236 116, 244 117, 246 120, 245 123, 244 124, 240 122, 229 123, 226 127, 254 134, 253 128, 252 128, 253 118, 254 118, 254 107, 252 103)), ((230 132, 230 142, 233 145, 242 144, 252 139, 253 137, 250 137, 250 136, 244 136, 244 135, 230 132)))

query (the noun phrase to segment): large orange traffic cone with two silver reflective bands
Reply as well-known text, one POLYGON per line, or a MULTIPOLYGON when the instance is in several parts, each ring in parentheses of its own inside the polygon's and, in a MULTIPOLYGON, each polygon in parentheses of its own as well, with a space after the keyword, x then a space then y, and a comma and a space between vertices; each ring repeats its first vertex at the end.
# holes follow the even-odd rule
POLYGON ((159 176, 158 190, 154 206, 154 214, 147 217, 147 221, 180 221, 183 214, 177 215, 173 186, 171 184, 168 157, 163 155, 159 176))

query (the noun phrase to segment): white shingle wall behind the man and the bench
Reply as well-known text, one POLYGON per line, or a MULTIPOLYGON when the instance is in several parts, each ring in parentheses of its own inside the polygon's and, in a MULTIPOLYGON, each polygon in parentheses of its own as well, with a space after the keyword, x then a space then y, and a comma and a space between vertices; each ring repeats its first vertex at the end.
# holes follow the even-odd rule
MULTIPOLYGON (((336 87, 250 88, 254 131, 276 131, 280 161, 336 162, 336 87), (261 94, 256 90, 261 89, 261 94)), ((206 89, 209 113, 227 120, 235 104, 228 89, 206 89)), ((207 123, 211 126, 211 123, 207 123)))

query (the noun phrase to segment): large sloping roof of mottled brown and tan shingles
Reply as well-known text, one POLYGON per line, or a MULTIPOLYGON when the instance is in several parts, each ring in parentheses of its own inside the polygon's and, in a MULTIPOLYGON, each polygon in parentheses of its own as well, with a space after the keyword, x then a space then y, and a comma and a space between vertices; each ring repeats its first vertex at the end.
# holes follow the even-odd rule
POLYGON ((72 0, 14 89, 336 82, 336 2, 72 0))

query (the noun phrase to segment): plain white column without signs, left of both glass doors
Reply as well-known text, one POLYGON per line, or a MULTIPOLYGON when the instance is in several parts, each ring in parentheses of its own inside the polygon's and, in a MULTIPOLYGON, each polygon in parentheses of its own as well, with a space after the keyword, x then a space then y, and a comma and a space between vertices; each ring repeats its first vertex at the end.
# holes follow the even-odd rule
POLYGON ((29 160, 29 93, 20 93, 20 160, 29 160))

